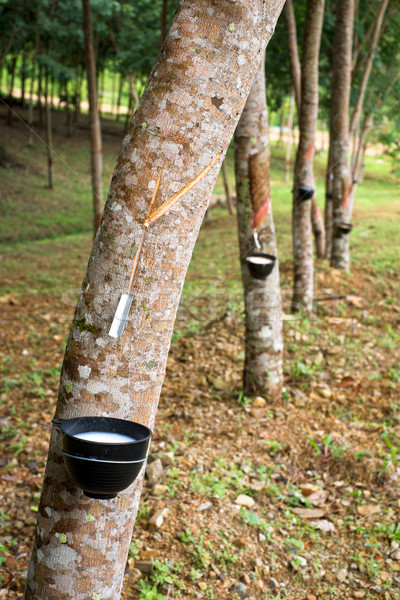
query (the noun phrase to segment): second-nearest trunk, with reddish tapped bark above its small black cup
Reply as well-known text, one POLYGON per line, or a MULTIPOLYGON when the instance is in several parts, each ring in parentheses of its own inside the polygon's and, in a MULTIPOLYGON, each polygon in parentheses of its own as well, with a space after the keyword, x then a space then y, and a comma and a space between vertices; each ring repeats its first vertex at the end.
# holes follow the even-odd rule
POLYGON ((235 132, 237 220, 246 309, 244 392, 276 398, 282 392, 282 305, 279 265, 266 279, 251 276, 245 256, 257 251, 277 256, 270 197, 270 150, 262 59, 235 132))

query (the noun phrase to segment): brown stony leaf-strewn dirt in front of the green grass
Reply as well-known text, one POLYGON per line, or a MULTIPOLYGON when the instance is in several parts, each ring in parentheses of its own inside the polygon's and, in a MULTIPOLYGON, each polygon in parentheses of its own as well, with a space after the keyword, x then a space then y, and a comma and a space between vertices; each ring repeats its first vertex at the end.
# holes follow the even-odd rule
MULTIPOLYGON (((240 394, 242 315, 191 333, 181 311, 124 599, 400 598, 398 282, 366 266, 317 281, 313 319, 286 317, 273 404, 240 394), (324 300, 332 288, 345 298, 324 300)), ((49 296, 0 302, 0 598, 11 600, 23 596, 49 439, 39 423, 54 414, 69 323, 49 296)))

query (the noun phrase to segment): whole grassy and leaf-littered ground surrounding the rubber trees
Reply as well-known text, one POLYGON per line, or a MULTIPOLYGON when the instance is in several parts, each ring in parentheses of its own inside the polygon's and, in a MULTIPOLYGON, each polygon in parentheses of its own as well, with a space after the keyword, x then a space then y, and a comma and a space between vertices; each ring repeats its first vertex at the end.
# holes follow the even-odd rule
MULTIPOLYGON (((45 153, 38 144, 26 148, 22 124, 7 128, 3 115, 0 598, 16 599, 48 448, 39 423, 54 414, 91 245, 90 193, 87 129, 66 138, 58 115, 55 145, 75 175, 60 165, 50 192, 45 153)), ((106 129, 105 178, 121 139, 121 128, 106 129)), ((290 184, 282 181, 283 151, 274 157, 288 313, 290 184)), ((285 390, 274 403, 241 393, 234 218, 219 208, 203 226, 168 359, 124 599, 400 597, 400 200, 386 159, 371 158, 367 167, 351 274, 318 262, 312 318, 286 314, 285 390)), ((322 189, 322 160, 317 169, 322 189)))

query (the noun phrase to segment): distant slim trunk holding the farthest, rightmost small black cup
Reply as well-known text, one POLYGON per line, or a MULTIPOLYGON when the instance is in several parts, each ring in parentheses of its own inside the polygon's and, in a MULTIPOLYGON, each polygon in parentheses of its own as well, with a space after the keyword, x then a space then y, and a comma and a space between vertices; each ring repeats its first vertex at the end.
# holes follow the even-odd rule
POLYGON ((331 265, 336 269, 350 268, 348 234, 341 223, 348 223, 352 195, 349 159, 349 104, 351 87, 351 48, 353 41, 354 0, 338 0, 333 42, 332 91, 330 107, 330 153, 332 164, 332 252, 331 265))

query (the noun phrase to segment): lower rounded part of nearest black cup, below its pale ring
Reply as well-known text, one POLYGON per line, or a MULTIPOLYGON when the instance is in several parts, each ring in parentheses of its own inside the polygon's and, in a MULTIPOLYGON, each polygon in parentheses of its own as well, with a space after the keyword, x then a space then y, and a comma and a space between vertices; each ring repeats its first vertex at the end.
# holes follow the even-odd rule
POLYGON ((125 490, 139 475, 146 459, 138 461, 98 460, 68 454, 64 450, 64 465, 68 477, 83 489, 89 498, 110 500, 125 490))

